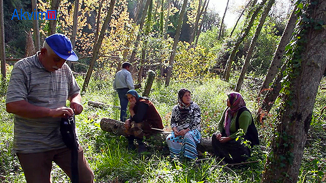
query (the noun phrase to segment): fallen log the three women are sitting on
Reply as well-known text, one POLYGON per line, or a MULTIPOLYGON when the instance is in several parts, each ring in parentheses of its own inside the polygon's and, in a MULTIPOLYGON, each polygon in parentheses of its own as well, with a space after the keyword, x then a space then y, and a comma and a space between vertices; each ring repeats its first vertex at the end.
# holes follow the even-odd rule
MULTIPOLYGON (((100 123, 101 129, 106 132, 111 132, 116 135, 125 136, 125 128, 124 123, 115 119, 110 118, 102 118, 100 123)), ((171 133, 171 131, 165 131, 160 129, 153 129, 157 131, 156 135, 153 135, 153 140, 158 142, 164 142, 167 136, 171 133)), ((212 153, 212 144, 210 138, 201 138, 200 144, 197 146, 197 150, 199 153, 203 153, 207 151, 208 153, 212 153)))

